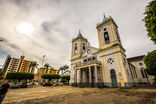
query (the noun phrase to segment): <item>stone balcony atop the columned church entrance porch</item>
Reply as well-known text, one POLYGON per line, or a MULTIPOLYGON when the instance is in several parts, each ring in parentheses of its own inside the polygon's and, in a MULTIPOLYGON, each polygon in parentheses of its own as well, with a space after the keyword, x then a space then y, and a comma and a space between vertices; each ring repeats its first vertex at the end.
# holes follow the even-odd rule
POLYGON ((87 65, 101 65, 100 61, 97 60, 92 60, 92 61, 87 61, 87 62, 83 62, 83 63, 77 63, 76 67, 83 67, 83 66, 87 66, 87 65))

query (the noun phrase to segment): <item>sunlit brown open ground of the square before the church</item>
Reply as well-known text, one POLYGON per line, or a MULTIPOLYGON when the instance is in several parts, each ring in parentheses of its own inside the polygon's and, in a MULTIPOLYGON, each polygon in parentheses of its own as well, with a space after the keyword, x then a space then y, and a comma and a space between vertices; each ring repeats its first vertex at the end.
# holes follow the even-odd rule
POLYGON ((156 89, 71 86, 10 89, 2 104, 156 104, 156 89))

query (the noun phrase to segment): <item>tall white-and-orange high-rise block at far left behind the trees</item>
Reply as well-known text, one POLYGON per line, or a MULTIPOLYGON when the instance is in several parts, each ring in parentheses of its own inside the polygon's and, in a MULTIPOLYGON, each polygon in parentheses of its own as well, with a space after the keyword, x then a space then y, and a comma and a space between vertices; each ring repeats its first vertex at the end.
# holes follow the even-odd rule
POLYGON ((35 68, 30 68, 31 61, 24 60, 25 56, 21 56, 19 58, 14 58, 11 56, 7 56, 3 67, 2 72, 6 75, 8 72, 27 72, 27 73, 34 73, 35 68), (32 70, 32 71, 30 71, 32 70))

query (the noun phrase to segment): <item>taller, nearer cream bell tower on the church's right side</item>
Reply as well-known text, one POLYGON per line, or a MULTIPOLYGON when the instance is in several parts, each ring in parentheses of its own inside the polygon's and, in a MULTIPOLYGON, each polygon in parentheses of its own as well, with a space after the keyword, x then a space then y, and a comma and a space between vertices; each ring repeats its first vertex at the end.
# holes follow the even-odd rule
POLYGON ((122 46, 118 34, 118 26, 111 17, 107 18, 104 15, 103 21, 97 24, 96 28, 98 32, 100 49, 108 48, 111 47, 112 45, 117 44, 122 46))

